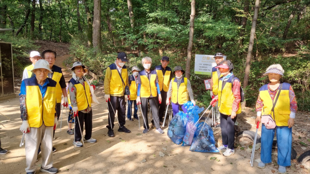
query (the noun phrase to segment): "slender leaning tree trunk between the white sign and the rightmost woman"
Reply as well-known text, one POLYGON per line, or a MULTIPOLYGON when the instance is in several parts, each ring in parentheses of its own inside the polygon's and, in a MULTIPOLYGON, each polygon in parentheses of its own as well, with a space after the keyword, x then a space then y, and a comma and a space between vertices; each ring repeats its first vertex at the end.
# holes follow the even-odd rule
MULTIPOLYGON (((260 9, 260 3, 261 3, 260 0, 255 0, 252 28, 251 28, 251 33, 250 33, 250 40, 248 43, 248 54, 247 54, 247 61, 246 61, 246 69, 245 69, 245 75, 244 75, 244 80, 243 80, 243 88, 245 89, 245 93, 246 93, 246 87, 248 86, 248 78, 249 78, 250 67, 251 67, 251 58, 252 58, 257 16, 258 16, 258 11, 260 9)), ((242 107, 245 107, 245 106, 246 106, 246 101, 244 101, 242 103, 242 107)))

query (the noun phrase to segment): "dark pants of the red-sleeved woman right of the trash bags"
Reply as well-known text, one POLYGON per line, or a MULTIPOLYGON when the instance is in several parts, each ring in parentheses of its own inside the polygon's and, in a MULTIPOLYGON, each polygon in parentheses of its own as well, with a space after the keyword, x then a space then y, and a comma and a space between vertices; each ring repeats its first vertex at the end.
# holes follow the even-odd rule
POLYGON ((231 116, 220 113, 221 119, 221 132, 223 145, 228 145, 228 148, 233 149, 234 146, 234 123, 237 120, 237 116, 233 119, 231 116))

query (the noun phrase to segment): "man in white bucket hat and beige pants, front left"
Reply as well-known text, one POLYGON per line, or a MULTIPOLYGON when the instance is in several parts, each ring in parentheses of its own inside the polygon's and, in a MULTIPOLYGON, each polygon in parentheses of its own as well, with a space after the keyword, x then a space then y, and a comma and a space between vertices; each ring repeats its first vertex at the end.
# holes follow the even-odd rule
POLYGON ((56 85, 47 77, 52 73, 46 60, 38 60, 31 73, 35 76, 22 81, 20 87, 20 117, 23 121, 20 131, 26 139, 26 173, 34 174, 37 166, 37 151, 41 144, 42 165, 40 171, 56 174, 53 167, 53 128, 57 124, 56 85))

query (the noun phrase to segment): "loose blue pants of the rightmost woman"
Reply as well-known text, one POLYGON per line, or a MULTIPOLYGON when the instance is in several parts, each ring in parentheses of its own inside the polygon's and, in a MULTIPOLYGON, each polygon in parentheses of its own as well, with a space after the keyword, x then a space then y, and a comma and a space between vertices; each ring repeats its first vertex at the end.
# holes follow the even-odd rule
POLYGON ((278 145, 278 164, 280 166, 291 165, 291 150, 292 150, 292 128, 288 126, 277 126, 275 129, 266 129, 262 124, 262 146, 261 146, 261 161, 263 163, 271 162, 271 149, 273 137, 277 130, 277 145, 278 145))

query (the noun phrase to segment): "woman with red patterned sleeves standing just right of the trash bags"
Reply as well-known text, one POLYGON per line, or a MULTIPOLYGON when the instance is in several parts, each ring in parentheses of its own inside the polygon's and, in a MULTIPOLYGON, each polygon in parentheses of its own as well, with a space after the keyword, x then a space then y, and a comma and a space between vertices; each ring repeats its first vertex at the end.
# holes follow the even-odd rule
POLYGON ((220 126, 222 132, 222 146, 219 151, 225 151, 223 155, 229 157, 234 154, 234 123, 237 114, 241 113, 240 80, 233 75, 233 63, 230 60, 223 60, 216 67, 222 77, 218 81, 218 94, 210 102, 215 105, 218 100, 218 111, 220 113, 220 126))

